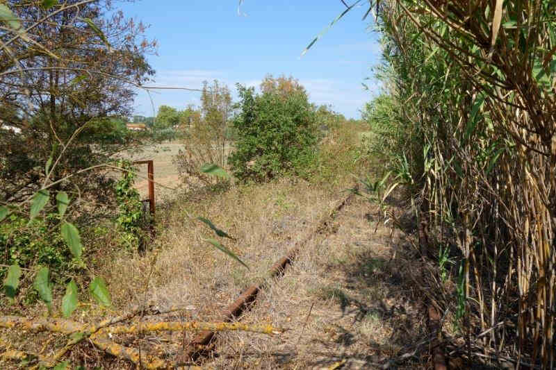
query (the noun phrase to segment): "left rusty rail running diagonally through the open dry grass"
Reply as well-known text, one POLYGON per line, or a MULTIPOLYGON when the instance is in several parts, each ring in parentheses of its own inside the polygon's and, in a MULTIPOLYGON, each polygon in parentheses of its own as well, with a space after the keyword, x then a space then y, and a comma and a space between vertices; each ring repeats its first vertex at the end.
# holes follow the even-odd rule
MULTIPOLYGON (((324 219, 320 221, 313 233, 309 234, 309 236, 302 241, 295 243, 295 246, 293 246, 293 248, 290 249, 288 253, 284 255, 284 257, 277 260, 277 262, 275 262, 275 264, 270 267, 268 276, 270 278, 277 278, 284 275, 284 272, 286 271, 288 265, 291 264, 293 260, 295 260, 302 246, 309 242, 309 239, 311 239, 313 235, 323 233, 323 231, 327 228, 329 222, 336 217, 337 212, 342 210, 342 208, 344 208, 345 205, 347 205, 347 203, 351 201, 353 196, 354 193, 350 193, 350 195, 347 196, 339 205, 336 205, 336 207, 334 207, 332 212, 330 212, 327 217, 324 217, 324 219)), ((243 312, 249 310, 250 305, 252 305, 256 301, 256 298, 259 295, 259 292, 261 292, 261 289, 264 285, 264 282, 256 283, 245 289, 245 291, 243 291, 243 293, 236 299, 236 301, 231 303, 231 305, 229 305, 222 312, 223 321, 233 321, 235 319, 238 319, 238 317, 240 317, 243 312)), ((209 353, 214 348, 214 346, 211 346, 211 344, 213 344, 215 337, 216 333, 208 330, 202 331, 197 334, 197 336, 193 339, 193 342, 191 342, 193 348, 190 348, 190 351, 185 353, 183 356, 184 363, 195 361, 199 358, 200 355, 209 353)))

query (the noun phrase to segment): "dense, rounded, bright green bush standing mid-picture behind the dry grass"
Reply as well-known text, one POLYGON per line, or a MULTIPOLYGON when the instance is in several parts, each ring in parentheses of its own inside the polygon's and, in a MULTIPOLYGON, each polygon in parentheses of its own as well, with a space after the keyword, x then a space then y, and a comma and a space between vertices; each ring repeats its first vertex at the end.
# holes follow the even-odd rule
POLYGON ((306 176, 316 159, 316 115, 304 90, 255 94, 238 85, 233 125, 236 150, 229 165, 240 180, 269 180, 284 173, 306 176))

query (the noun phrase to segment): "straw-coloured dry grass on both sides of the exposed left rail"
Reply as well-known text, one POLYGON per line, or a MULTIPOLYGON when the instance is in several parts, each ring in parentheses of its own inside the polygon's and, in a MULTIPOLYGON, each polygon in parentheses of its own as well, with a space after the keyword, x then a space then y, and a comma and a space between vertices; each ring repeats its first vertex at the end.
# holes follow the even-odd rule
MULTIPOLYGON (((156 260, 152 255, 123 258, 104 272, 111 287, 117 286, 111 289, 115 304, 125 308, 147 297, 161 306, 193 306, 173 319, 218 319, 226 305, 245 287, 263 279, 270 265, 311 235, 318 221, 346 195, 288 179, 235 187, 215 198, 169 206, 163 220, 166 231, 158 237, 167 248, 158 252, 156 260), (206 230, 187 221, 185 210, 196 215, 211 212, 215 224, 237 237, 227 246, 251 271, 198 242, 196 235, 206 230)), ((399 257, 392 260, 390 230, 379 227, 374 233, 369 211, 368 203, 357 200, 339 212, 329 230, 309 239, 293 267, 270 282, 259 303, 242 318, 246 323, 271 323, 291 330, 279 337, 222 334, 218 358, 209 359, 207 365, 307 369, 345 360, 344 368, 364 369, 412 350, 425 336, 423 313, 413 304, 416 293, 407 289, 411 282, 402 271, 405 262, 399 257)), ((180 333, 166 339, 174 342, 165 346, 172 358, 192 337, 180 333)))

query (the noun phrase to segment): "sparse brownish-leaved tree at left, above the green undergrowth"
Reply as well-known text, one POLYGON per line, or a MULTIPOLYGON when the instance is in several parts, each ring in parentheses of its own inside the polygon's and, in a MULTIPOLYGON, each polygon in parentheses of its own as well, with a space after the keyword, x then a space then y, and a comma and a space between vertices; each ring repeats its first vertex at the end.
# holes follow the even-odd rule
MULTIPOLYGON (((106 137, 111 130, 104 125, 120 130, 108 117, 129 115, 133 85, 154 73, 145 53, 153 51, 155 44, 142 38, 142 24, 125 19, 122 12, 108 15, 111 2, 5 3, 14 20, 0 30, 4 46, 0 119, 21 133, 13 140, 0 139, 1 155, 19 158, 17 168, 8 171, 17 177, 0 178, 0 196, 3 201, 17 201, 44 185, 44 163, 49 157, 56 159, 63 153, 47 182, 104 162, 122 149, 114 145, 93 149, 93 137, 86 134, 106 137), (12 26, 28 31, 15 31, 12 26), (77 131, 81 134, 72 137, 77 131)), ((94 191, 95 178, 102 176, 92 176, 87 180, 74 176, 72 189, 78 185, 85 194, 94 191)), ((58 190, 65 186, 70 184, 56 183, 58 190)))

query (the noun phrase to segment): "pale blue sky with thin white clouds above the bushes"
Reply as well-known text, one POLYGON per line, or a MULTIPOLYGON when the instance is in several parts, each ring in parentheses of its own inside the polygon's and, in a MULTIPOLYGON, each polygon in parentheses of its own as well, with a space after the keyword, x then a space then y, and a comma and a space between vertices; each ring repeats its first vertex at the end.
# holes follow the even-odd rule
MULTIPOLYGON (((156 69, 150 85, 199 88, 218 79, 235 92, 236 83, 258 86, 266 74, 285 74, 304 85, 312 102, 354 118, 378 90, 375 81, 365 81, 380 51, 378 35, 368 31, 372 16, 361 21, 364 8, 345 15, 300 58, 345 9, 340 0, 245 0, 240 15, 237 0, 142 0, 119 8, 150 25, 147 38, 158 41, 158 55, 148 56, 156 69)), ((163 104, 181 109, 198 105, 199 92, 157 90, 152 99, 155 110, 163 104)), ((153 115, 146 92, 138 92, 135 110, 153 115)))

